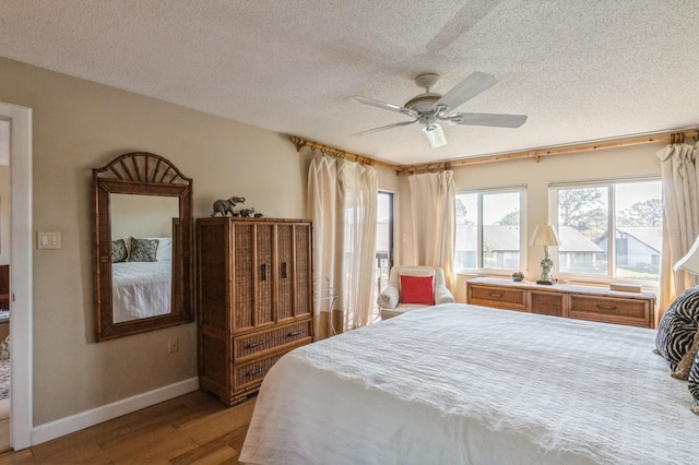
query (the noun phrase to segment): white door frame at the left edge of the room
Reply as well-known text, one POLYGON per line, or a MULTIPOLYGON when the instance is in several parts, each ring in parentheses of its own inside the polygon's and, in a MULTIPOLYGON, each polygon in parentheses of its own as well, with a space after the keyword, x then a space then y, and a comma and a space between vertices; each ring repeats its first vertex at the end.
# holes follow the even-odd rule
POLYGON ((32 109, 0 103, 10 121, 10 445, 32 445, 32 109))

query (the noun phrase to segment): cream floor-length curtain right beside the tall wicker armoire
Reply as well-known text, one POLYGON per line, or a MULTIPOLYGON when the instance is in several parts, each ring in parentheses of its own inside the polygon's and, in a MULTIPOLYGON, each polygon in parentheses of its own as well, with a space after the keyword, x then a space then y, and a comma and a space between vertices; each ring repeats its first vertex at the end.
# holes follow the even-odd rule
POLYGON ((372 167, 311 153, 306 205, 313 220, 315 312, 330 312, 324 319, 330 327, 318 336, 370 322, 379 189, 372 167))

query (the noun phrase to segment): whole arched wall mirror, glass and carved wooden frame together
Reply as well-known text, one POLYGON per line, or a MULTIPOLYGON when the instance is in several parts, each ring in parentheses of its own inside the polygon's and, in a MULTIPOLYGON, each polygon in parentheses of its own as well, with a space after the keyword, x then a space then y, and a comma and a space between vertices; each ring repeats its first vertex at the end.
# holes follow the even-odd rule
POLYGON ((93 169, 97 341, 193 321, 192 181, 166 158, 93 169))

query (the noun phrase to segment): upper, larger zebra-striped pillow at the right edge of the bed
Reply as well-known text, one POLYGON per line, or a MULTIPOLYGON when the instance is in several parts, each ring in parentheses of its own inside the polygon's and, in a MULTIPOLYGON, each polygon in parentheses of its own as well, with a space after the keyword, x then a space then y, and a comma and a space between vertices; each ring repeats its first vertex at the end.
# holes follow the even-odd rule
POLYGON ((699 286, 679 295, 657 325, 655 348, 670 363, 674 378, 686 380, 699 349, 699 286))

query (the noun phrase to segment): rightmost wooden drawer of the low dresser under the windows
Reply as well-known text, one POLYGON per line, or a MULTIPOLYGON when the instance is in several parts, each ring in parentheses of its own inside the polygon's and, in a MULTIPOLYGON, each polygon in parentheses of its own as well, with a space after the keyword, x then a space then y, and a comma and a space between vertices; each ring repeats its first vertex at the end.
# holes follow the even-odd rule
POLYGON ((605 323, 652 327, 651 308, 645 300, 570 295, 568 317, 605 323))

